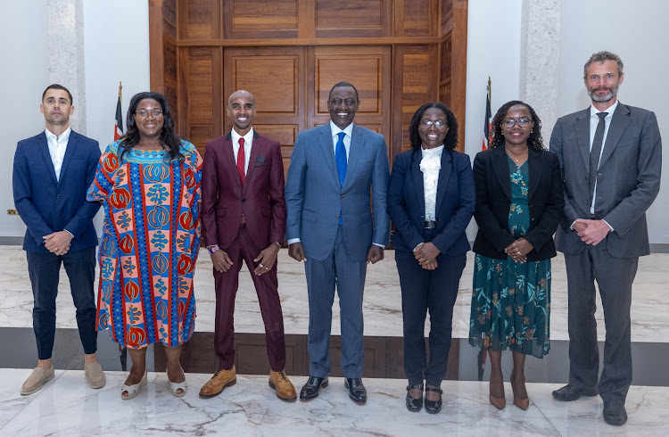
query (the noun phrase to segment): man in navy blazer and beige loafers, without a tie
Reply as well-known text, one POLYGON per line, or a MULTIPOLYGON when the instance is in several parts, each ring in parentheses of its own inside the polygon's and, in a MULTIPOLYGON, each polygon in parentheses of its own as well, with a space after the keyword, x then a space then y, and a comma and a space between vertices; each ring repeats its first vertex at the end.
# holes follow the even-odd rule
POLYGON ((72 95, 61 85, 51 85, 42 95, 40 111, 45 131, 21 140, 16 146, 13 169, 14 205, 28 228, 23 250, 34 296, 33 329, 38 364, 23 383, 21 394, 37 392, 54 378, 52 350, 55 337, 55 301, 61 264, 70 278, 77 307, 79 337, 84 347, 88 385, 105 383, 95 358, 95 245, 93 218, 100 204, 86 202, 100 146, 70 128, 74 111, 72 95))

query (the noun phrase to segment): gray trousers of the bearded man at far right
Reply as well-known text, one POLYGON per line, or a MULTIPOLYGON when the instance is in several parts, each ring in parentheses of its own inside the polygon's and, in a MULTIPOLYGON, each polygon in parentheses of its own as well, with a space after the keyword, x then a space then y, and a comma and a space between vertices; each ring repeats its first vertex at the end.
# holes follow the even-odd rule
POLYGON ((638 258, 615 258, 606 240, 588 245, 577 255, 565 255, 569 295, 569 383, 597 386, 599 349, 595 320, 595 280, 607 328, 604 369, 599 378, 602 400, 624 402, 632 383, 630 306, 638 258))

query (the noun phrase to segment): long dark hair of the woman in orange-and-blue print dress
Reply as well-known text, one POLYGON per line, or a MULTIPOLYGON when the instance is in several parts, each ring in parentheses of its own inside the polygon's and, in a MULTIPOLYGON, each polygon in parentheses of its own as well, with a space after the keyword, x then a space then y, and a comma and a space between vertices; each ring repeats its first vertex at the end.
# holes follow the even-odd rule
POLYGON ((172 111, 169 110, 169 104, 164 95, 154 93, 153 91, 145 91, 137 93, 130 99, 130 106, 128 107, 128 115, 126 116, 126 124, 128 130, 126 135, 120 138, 119 144, 120 158, 123 157, 132 147, 139 144, 139 129, 135 123, 135 112, 140 102, 145 99, 153 99, 161 104, 162 109, 162 130, 161 130, 161 145, 168 150, 169 161, 181 161, 184 159, 181 153, 181 138, 174 131, 174 119, 172 119, 172 111))

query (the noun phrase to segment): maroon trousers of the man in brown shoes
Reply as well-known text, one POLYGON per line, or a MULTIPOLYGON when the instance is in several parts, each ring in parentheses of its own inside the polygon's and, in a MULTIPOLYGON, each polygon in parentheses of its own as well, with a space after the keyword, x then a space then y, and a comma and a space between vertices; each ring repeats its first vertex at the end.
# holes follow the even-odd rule
POLYGON ((226 249, 232 260, 232 267, 225 273, 214 269, 216 284, 216 327, 214 332, 214 350, 219 357, 219 369, 230 369, 235 364, 235 296, 239 286, 239 270, 242 260, 251 272, 253 284, 258 294, 260 314, 265 323, 265 340, 269 367, 278 372, 285 368, 284 315, 278 296, 277 262, 263 275, 256 275, 253 270, 258 266, 254 262, 264 247, 253 243, 246 225, 239 228, 235 241, 226 249))

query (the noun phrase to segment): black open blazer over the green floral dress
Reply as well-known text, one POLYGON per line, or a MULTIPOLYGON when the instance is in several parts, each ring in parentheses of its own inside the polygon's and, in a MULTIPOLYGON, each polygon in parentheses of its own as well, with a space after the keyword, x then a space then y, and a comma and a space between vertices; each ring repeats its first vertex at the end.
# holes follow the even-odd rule
MULTIPOLYGON (((504 249, 516 240, 508 230, 511 178, 507 160, 504 145, 478 153, 474 159, 474 217, 478 224, 474 251, 497 260, 507 258, 504 249)), ((556 255, 553 234, 565 207, 560 165, 555 153, 537 152, 532 148, 527 163, 530 167, 530 228, 523 238, 533 245, 527 260, 548 260, 556 255)))

